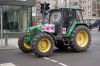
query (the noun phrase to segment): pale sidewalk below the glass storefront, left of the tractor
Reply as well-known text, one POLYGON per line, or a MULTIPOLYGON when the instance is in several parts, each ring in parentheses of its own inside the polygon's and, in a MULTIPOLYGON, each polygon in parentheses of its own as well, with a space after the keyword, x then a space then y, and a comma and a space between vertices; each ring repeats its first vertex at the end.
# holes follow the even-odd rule
POLYGON ((16 49, 18 48, 18 38, 8 38, 8 45, 5 46, 5 40, 3 39, 3 44, 1 44, 0 39, 0 50, 1 49, 16 49))

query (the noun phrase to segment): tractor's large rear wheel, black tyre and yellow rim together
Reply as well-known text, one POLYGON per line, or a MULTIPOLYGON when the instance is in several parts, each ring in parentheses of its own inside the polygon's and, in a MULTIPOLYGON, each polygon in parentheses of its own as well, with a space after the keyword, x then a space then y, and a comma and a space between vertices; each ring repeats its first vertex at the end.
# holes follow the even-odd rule
POLYGON ((89 48, 91 42, 91 35, 86 26, 77 26, 71 35, 70 47, 77 52, 86 51, 89 48))

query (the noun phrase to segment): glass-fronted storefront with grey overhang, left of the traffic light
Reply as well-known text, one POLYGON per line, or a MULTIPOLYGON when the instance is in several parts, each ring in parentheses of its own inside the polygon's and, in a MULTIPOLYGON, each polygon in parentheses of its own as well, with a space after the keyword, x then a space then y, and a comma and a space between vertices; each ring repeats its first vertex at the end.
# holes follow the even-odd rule
POLYGON ((32 23, 36 0, 0 0, 0 37, 4 33, 25 32, 32 23))

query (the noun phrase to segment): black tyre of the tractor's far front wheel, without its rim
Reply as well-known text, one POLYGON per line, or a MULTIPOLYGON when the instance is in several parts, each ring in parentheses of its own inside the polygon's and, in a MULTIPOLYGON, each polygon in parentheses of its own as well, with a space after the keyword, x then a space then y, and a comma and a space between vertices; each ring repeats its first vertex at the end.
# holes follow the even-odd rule
POLYGON ((18 47, 19 49, 24 52, 24 53, 29 53, 29 52, 32 52, 31 49, 27 49, 25 46, 24 46, 24 38, 25 38, 25 35, 22 36, 22 37, 19 37, 19 40, 18 40, 18 47))

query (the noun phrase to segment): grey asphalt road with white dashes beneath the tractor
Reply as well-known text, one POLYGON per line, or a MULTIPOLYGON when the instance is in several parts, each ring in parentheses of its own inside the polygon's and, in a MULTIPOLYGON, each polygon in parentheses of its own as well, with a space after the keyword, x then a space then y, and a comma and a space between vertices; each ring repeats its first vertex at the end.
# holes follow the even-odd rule
POLYGON ((51 57, 37 58, 19 49, 0 50, 0 66, 100 66, 100 32, 92 32, 92 43, 86 52, 54 49, 51 57))

